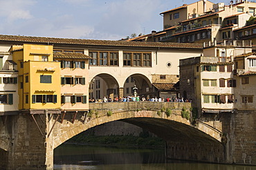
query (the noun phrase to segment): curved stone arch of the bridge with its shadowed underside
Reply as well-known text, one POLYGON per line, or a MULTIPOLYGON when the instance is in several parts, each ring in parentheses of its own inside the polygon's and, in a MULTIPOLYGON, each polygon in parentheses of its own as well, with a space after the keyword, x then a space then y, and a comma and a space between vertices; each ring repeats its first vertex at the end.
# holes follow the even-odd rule
POLYGON ((180 117, 181 115, 159 117, 157 116, 156 111, 122 111, 113 113, 111 116, 104 115, 89 120, 89 122, 86 122, 85 124, 76 124, 72 129, 69 129, 62 134, 59 133, 55 135, 53 146, 56 148, 66 140, 73 138, 75 135, 78 135, 87 129, 117 120, 148 129, 165 141, 190 141, 199 144, 221 144, 220 133, 215 133, 214 130, 210 129, 208 126, 198 129, 195 126, 192 126, 188 120, 180 117))

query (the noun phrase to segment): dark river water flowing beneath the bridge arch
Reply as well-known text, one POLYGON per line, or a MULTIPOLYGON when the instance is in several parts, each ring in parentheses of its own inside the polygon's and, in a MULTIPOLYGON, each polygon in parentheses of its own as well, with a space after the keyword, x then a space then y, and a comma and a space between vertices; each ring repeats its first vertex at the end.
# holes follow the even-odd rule
POLYGON ((54 169, 256 170, 256 166, 165 160, 165 149, 62 144, 54 151, 54 169))

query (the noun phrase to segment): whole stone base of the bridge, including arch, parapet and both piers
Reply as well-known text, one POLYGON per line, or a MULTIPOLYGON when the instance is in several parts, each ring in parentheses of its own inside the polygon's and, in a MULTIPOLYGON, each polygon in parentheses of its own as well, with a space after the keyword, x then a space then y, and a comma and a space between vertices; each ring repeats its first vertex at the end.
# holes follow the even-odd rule
POLYGON ((111 102, 90 104, 89 112, 1 115, 0 169, 53 169, 53 149, 87 129, 116 120, 163 138, 167 158, 256 165, 255 112, 203 115, 192 121, 190 107, 190 103, 111 102))

